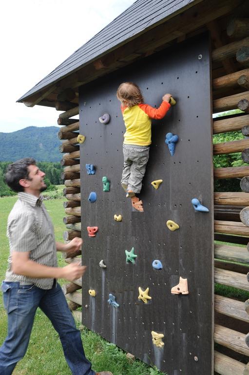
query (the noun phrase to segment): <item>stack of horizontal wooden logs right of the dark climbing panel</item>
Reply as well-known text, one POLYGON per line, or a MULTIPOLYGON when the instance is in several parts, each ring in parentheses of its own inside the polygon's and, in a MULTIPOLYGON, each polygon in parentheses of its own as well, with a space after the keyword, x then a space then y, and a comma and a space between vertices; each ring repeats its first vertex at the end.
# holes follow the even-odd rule
MULTIPOLYGON (((230 131, 242 131, 248 136, 249 128, 249 19, 233 19, 228 24, 227 33, 240 40, 224 45, 212 52, 212 62, 228 62, 236 58, 240 68, 212 82, 213 113, 231 109, 241 109, 244 113, 218 117, 213 120, 213 134, 230 131), (241 39, 242 38, 242 39, 241 39)), ((223 63, 225 67, 225 63, 223 63)), ((243 161, 249 163, 249 138, 240 141, 224 142, 213 145, 213 154, 242 152, 243 161)), ((249 271, 249 252, 238 246, 249 243, 249 220, 240 220, 240 211, 249 206, 249 166, 214 169, 214 179, 241 178, 242 192, 214 193, 214 239, 234 245, 214 245, 214 282, 249 291, 247 273, 249 271), (244 186, 244 188, 243 188, 244 186), (226 218, 225 220, 223 218, 226 218), (222 233, 222 234, 220 234, 222 233), (231 263, 232 262, 232 263, 231 263)), ((214 296, 215 316, 226 315, 236 321, 248 322, 249 314, 244 303, 235 299, 214 296)), ((226 321, 226 320, 225 320, 226 321)), ((245 342, 245 333, 231 330, 215 324, 214 342, 230 350, 249 356, 249 347, 245 342)), ((232 354, 231 354, 232 356, 232 354)), ((214 370, 221 375, 248 375, 249 366, 227 355, 214 353, 214 370)))

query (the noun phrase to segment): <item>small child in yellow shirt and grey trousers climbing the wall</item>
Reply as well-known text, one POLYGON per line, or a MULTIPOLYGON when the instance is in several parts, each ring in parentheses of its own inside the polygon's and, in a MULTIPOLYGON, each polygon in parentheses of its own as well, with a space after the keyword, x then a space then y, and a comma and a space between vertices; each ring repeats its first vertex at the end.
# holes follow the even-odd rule
POLYGON ((140 193, 151 145, 151 119, 162 119, 171 107, 171 94, 165 94, 159 108, 143 103, 140 88, 132 82, 121 83, 117 89, 117 99, 126 127, 123 143, 124 166, 121 185, 133 207, 143 212, 140 193))

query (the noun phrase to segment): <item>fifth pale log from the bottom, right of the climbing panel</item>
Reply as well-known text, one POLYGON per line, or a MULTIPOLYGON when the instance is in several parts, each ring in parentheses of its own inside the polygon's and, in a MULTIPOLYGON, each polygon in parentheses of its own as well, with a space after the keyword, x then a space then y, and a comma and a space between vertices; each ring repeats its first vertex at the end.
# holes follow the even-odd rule
POLYGON ((214 244, 214 257, 230 262, 249 264, 249 252, 247 248, 239 246, 214 244))

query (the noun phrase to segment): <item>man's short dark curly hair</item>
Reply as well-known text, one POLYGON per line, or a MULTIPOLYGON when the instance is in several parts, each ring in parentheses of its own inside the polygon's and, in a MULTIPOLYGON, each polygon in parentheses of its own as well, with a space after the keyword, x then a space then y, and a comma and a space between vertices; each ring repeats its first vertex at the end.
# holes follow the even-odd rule
POLYGON ((29 178, 28 166, 35 166, 36 161, 32 158, 23 158, 15 163, 9 164, 5 173, 6 184, 14 191, 24 191, 24 188, 19 185, 19 180, 29 178))

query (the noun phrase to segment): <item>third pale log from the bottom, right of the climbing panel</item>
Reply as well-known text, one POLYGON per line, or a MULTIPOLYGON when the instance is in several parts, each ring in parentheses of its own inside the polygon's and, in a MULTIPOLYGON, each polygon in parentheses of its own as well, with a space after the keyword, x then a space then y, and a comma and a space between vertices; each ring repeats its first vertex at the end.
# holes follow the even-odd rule
POLYGON ((231 318, 249 323, 249 315, 245 311, 244 302, 215 294, 214 310, 231 318))

